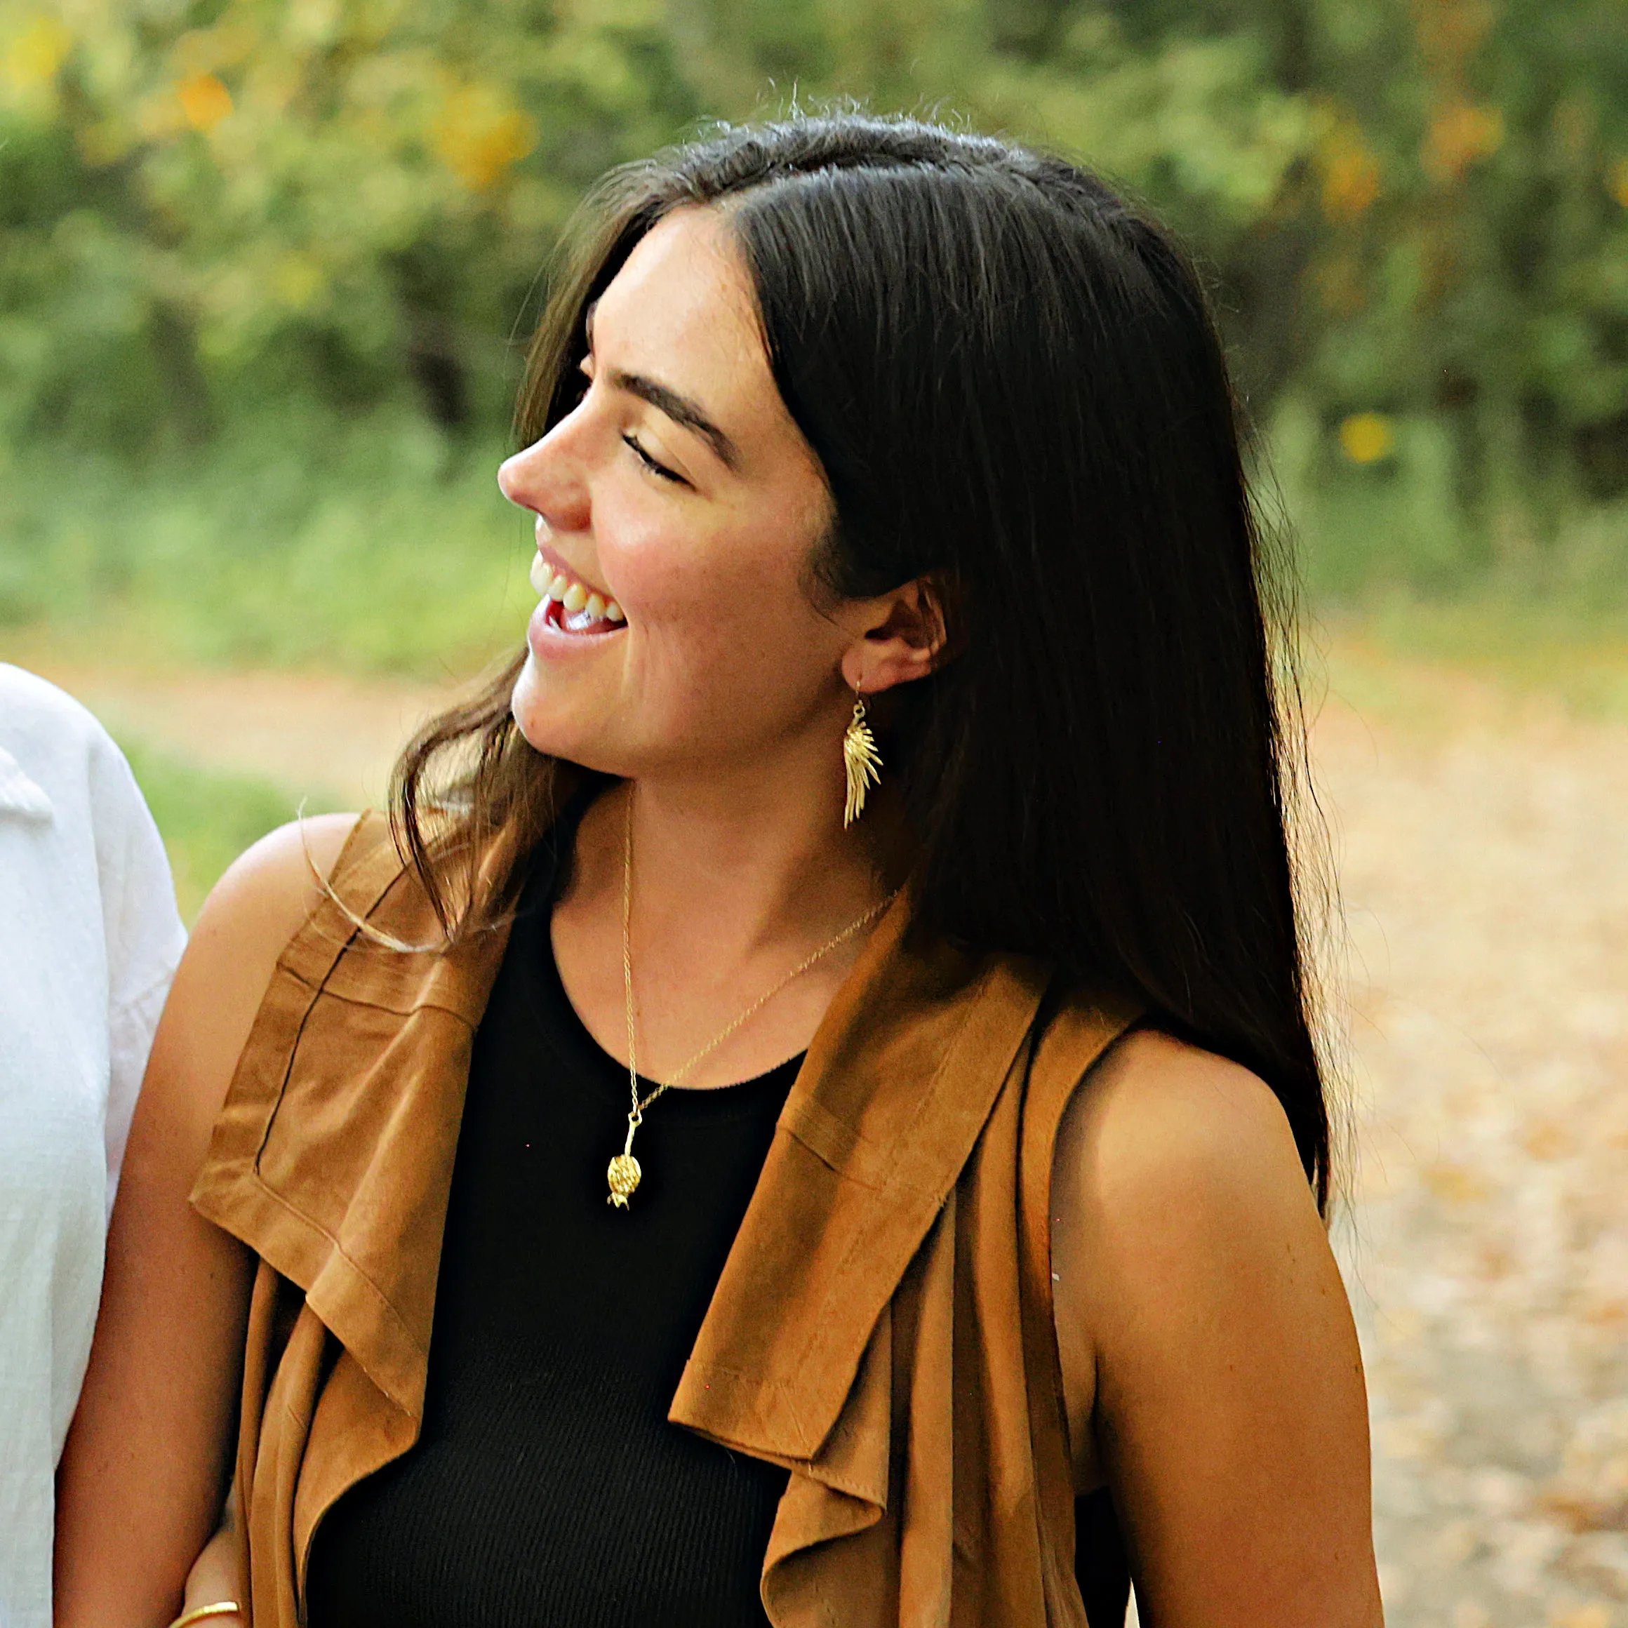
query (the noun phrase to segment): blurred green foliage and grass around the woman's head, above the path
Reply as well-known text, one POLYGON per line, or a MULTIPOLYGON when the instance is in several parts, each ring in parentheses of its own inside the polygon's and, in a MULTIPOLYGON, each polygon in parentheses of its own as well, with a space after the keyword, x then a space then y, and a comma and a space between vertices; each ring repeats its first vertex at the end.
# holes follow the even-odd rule
POLYGON ((0 620, 488 650, 581 189, 843 96, 1187 234, 1319 591, 1621 599, 1623 86, 1620 0, 0 0, 0 620))

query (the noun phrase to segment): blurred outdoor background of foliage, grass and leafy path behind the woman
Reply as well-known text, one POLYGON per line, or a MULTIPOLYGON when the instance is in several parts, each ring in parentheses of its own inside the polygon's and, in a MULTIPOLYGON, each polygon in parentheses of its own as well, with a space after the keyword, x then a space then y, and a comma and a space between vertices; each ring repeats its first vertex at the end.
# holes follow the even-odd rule
POLYGON ((1394 1625, 1628 1628, 1621 0, 0 0, 0 658, 187 913, 518 638, 510 446, 609 164, 855 98, 1201 256, 1311 612, 1394 1625))

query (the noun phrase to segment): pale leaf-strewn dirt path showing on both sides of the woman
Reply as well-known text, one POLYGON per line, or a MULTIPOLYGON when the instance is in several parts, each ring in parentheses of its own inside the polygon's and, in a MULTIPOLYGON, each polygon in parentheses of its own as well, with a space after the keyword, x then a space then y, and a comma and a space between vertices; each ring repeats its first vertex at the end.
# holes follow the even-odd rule
MULTIPOLYGON (((1628 1628, 1628 728, 1372 653, 1332 667, 1315 759, 1358 1144, 1338 1239, 1389 1621, 1628 1628)), ((179 755, 344 803, 378 799, 444 695, 49 676, 179 755)))

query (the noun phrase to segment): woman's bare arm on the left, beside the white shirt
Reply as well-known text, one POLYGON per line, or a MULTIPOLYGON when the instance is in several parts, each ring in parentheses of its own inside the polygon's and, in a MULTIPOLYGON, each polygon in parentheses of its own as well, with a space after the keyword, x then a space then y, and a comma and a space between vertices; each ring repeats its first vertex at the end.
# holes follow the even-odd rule
POLYGON ((311 866, 332 869, 352 824, 324 816, 256 843, 210 894, 176 974, 57 1472, 57 1628, 168 1623, 221 1519, 254 1262, 187 1193, 277 957, 319 897, 311 866))

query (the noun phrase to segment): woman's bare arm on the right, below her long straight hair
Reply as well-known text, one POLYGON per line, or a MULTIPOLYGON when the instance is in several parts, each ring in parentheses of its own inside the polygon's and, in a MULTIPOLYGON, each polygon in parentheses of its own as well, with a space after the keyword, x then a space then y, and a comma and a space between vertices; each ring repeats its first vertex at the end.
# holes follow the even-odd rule
POLYGON ((1130 1035, 1052 1216, 1076 1485, 1114 1488, 1144 1628, 1379 1628, 1356 1330, 1268 1088, 1130 1035))

